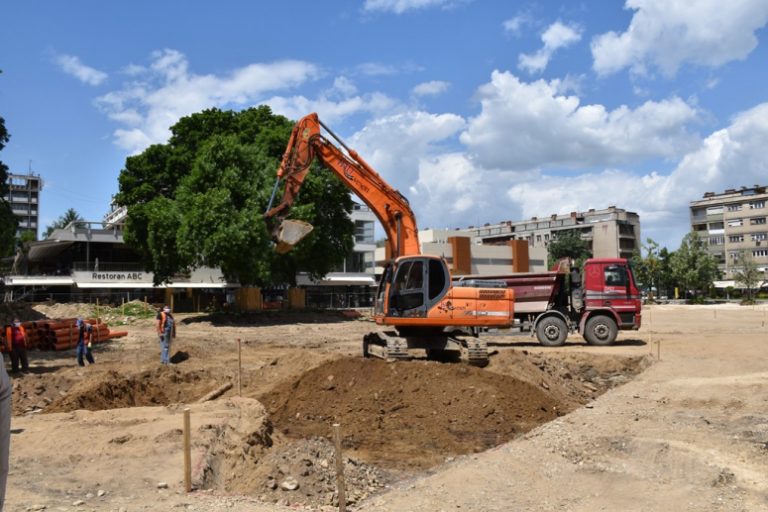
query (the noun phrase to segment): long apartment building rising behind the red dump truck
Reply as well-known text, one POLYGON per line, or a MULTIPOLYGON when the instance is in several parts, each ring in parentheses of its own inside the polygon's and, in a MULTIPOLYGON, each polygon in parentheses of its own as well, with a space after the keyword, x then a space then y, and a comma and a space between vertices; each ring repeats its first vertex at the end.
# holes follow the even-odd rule
MULTIPOLYGON (((602 210, 571 212, 567 215, 532 217, 528 220, 470 226, 458 232, 483 244, 526 240, 532 254, 547 254, 549 242, 561 231, 578 231, 589 243, 595 258, 631 258, 640 249, 640 217, 637 213, 609 206, 602 210)), ((540 259, 540 258, 538 258, 540 259)), ((537 261, 538 262, 538 261, 537 261)), ((543 264, 546 264, 546 256, 543 264)), ((534 267, 536 265, 533 265, 534 267)))

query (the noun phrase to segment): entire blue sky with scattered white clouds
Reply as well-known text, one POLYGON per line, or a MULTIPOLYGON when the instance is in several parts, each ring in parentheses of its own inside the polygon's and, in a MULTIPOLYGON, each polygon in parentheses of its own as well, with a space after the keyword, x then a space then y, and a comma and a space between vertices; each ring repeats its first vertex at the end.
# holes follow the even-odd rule
POLYGON ((43 229, 101 220, 126 157, 212 107, 317 112, 421 229, 616 206, 674 250, 690 201, 768 184, 768 0, 7 0, 0 19, 0 160, 43 178, 43 229))

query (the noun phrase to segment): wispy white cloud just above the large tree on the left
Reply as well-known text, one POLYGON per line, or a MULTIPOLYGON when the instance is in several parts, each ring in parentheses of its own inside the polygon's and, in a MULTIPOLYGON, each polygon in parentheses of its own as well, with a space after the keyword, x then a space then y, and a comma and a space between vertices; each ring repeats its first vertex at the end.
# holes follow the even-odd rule
POLYGON ((132 66, 133 81, 96 99, 111 119, 124 126, 115 130, 116 143, 138 152, 162 143, 179 118, 206 108, 246 108, 270 91, 288 89, 320 76, 317 66, 286 60, 250 64, 225 76, 197 75, 176 50, 152 54, 149 67, 132 66))

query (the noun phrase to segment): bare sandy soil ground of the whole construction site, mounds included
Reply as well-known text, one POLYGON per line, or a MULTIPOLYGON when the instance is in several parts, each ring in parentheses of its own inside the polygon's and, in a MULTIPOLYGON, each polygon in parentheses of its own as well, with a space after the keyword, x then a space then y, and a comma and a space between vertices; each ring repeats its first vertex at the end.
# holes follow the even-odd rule
POLYGON ((494 338, 483 369, 363 359, 373 324, 331 313, 177 320, 169 367, 151 320, 93 366, 30 354, 6 510, 333 510, 334 423, 351 510, 768 510, 765 309, 653 306, 612 347, 494 338))

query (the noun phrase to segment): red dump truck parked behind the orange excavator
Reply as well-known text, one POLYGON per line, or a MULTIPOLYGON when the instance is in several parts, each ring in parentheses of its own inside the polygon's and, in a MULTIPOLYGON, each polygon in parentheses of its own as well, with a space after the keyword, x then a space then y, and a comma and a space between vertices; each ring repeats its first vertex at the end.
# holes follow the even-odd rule
POLYGON ((589 259, 582 272, 560 264, 549 272, 463 276, 456 281, 514 289, 515 325, 536 333, 542 345, 562 345, 575 331, 591 345, 610 345, 619 330, 640 328, 640 292, 623 258, 589 259))

